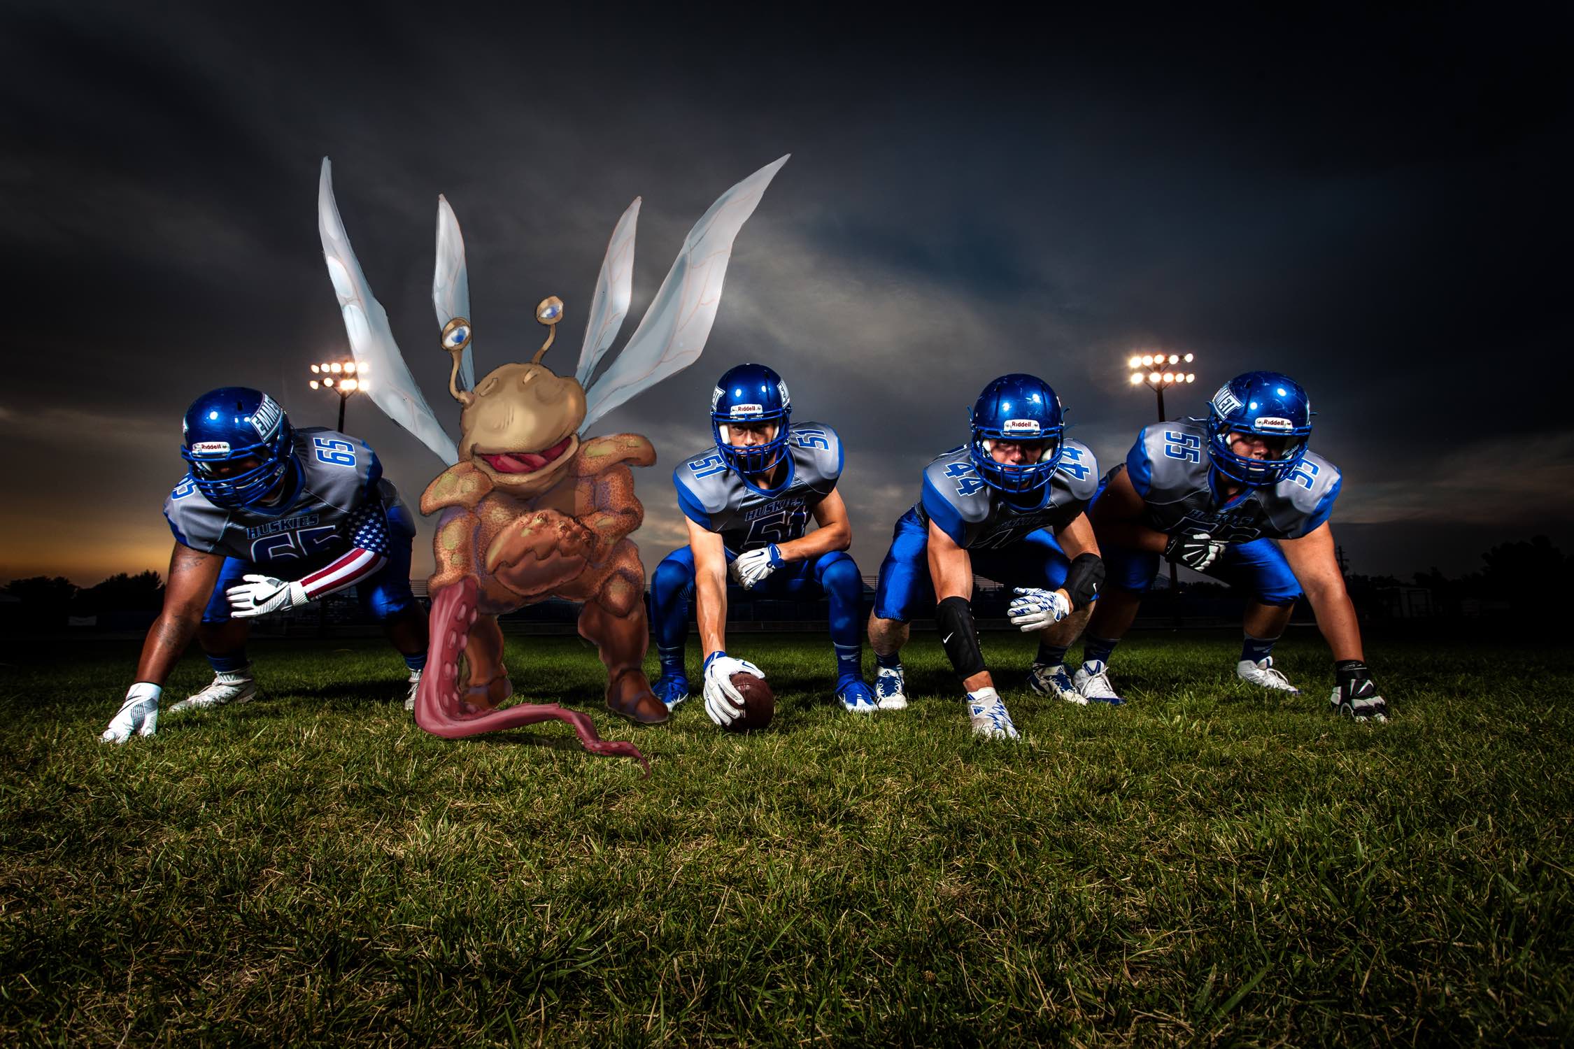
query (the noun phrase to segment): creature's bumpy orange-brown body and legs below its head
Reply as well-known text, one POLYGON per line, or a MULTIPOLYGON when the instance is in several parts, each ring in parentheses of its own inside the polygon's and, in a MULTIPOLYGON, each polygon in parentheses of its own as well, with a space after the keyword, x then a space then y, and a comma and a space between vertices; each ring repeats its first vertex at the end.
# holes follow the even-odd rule
MULTIPOLYGON (((433 538, 438 569, 428 582, 436 673, 422 678, 420 692, 425 695, 430 683, 430 701, 416 701, 422 728, 472 734, 504 722, 526 723, 521 717, 571 720, 557 705, 490 711, 512 690, 496 617, 552 596, 586 602, 579 632, 595 642, 606 664, 608 708, 644 723, 666 720, 666 706, 641 670, 645 571, 639 549, 626 538, 645 516, 630 466, 655 461, 648 440, 615 434, 581 444, 557 481, 527 499, 504 491, 469 461, 427 488, 420 511, 442 516, 433 538), (444 601, 439 617, 438 599, 450 591, 461 596, 444 601), (469 664, 463 690, 460 651, 469 664)), ((575 723, 584 739, 584 727, 575 723)))

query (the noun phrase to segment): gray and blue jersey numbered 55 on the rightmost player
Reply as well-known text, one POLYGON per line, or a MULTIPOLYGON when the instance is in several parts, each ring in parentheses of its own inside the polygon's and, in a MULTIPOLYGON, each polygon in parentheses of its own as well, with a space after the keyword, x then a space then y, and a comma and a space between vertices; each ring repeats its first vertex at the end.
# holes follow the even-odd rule
POLYGON ((1339 469, 1316 451, 1306 451, 1278 484, 1248 488, 1232 499, 1215 492, 1210 467, 1203 420, 1144 428, 1125 456, 1125 473, 1143 497, 1141 522, 1165 535, 1206 532, 1237 544, 1264 536, 1299 539, 1328 519, 1339 495, 1339 469))

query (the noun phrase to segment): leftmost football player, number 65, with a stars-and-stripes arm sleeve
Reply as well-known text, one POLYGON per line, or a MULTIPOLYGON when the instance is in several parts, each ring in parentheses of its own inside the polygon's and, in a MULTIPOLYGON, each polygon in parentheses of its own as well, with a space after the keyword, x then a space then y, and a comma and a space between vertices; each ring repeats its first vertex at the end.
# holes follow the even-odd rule
POLYGON ((246 387, 197 398, 184 432, 189 472, 164 503, 175 533, 164 612, 104 741, 154 733, 164 681, 192 634, 214 679, 170 711, 252 698, 250 620, 346 587, 405 656, 411 709, 427 664, 427 617, 409 591, 416 525, 376 453, 332 429, 293 428, 271 396, 246 387))

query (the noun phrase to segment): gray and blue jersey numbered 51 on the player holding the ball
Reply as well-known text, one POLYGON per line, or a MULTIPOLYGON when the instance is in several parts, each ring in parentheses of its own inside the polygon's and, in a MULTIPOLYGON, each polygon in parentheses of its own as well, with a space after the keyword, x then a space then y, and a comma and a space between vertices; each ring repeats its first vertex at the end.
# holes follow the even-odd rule
POLYGON ((842 477, 842 440, 825 423, 790 423, 787 477, 774 489, 756 488, 711 447, 678 464, 672 484, 683 516, 743 554, 803 538, 809 514, 842 477))

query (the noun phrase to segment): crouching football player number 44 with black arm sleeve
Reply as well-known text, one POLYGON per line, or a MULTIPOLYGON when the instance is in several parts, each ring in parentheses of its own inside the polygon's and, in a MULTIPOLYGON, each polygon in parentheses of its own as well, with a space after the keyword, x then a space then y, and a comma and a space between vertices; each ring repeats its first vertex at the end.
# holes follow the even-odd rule
POLYGON ((1029 684, 1042 695, 1088 700, 1066 673, 1066 646, 1099 596, 1103 561, 1083 513, 1099 464, 1064 436, 1061 399, 1037 376, 995 379, 970 412, 973 439, 924 467, 918 503, 896 522, 869 617, 881 708, 907 706, 902 645, 908 620, 935 609, 935 624, 968 697, 973 731, 1015 739, 973 624, 973 576, 1014 587, 1007 615, 1042 631, 1029 684), (938 604, 937 604, 938 598, 938 604))

